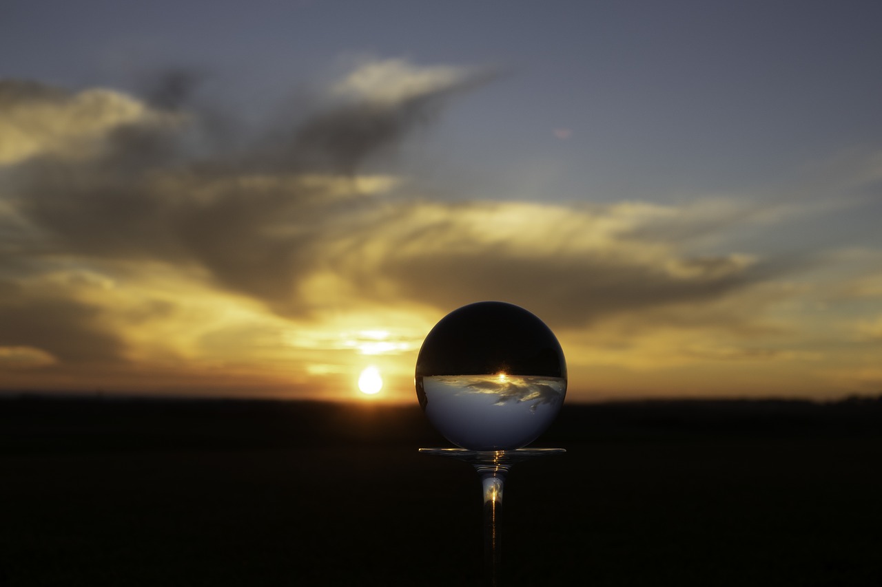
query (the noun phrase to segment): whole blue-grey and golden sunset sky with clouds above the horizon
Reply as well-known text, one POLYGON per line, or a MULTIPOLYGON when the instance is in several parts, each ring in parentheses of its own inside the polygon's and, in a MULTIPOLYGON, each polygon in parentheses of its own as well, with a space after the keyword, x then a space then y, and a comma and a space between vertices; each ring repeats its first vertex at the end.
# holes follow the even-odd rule
POLYGON ((878 395, 880 21, 6 0, 0 390, 415 402, 499 300, 567 402, 878 395))

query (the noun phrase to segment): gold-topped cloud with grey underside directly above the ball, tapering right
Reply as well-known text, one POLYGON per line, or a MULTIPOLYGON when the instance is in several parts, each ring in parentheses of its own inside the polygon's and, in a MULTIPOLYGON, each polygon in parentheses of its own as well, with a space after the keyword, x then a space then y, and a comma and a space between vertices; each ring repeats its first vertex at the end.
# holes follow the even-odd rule
POLYGON ((437 308, 500 299, 555 325, 582 327, 619 313, 700 306, 768 279, 747 256, 683 256, 634 227, 664 209, 524 203, 409 203, 370 225, 326 234, 335 269, 362 296, 421 300, 437 308))

